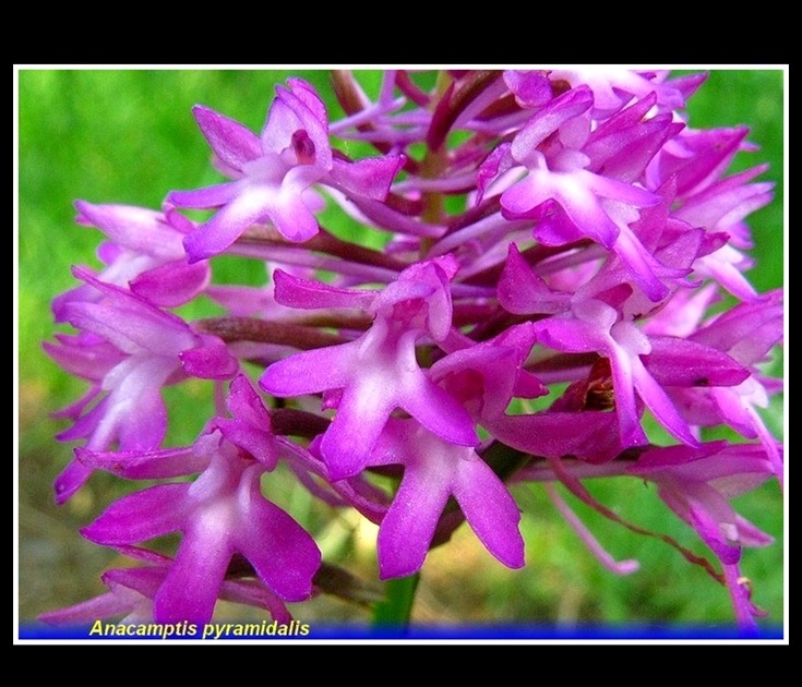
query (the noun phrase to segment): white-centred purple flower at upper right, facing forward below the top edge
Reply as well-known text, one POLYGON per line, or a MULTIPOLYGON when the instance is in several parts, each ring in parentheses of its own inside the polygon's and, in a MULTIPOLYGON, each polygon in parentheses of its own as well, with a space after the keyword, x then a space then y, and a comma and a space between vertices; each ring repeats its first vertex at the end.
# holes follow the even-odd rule
MULTIPOLYGON (((660 198, 633 181, 674 130, 670 118, 641 123, 639 117, 627 116, 622 122, 611 120, 608 130, 594 136, 588 114, 592 103, 587 87, 568 91, 516 134, 508 148, 514 162, 504 166, 524 166, 527 174, 501 194, 502 212, 508 219, 540 220, 534 236, 541 242, 562 244, 587 237, 614 251, 657 301, 667 293, 656 276, 661 264, 642 244, 632 225, 639 218, 637 208, 657 205, 660 198), (611 137, 617 142, 623 137, 637 148, 637 155, 613 156, 606 140, 611 137), (598 173, 608 164, 620 178, 598 173)), ((630 109, 641 116, 649 103, 630 109)), ((488 164, 500 165, 501 159, 488 164)))

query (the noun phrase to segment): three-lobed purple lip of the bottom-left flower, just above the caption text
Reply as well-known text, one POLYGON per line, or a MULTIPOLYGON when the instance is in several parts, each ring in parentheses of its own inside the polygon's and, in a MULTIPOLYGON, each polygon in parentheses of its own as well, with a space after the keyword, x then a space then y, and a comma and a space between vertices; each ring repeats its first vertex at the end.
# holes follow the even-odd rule
MULTIPOLYGON (((262 496, 260 477, 267 468, 243 457, 219 430, 214 436, 216 450, 194 482, 160 484, 125 496, 82 530, 91 541, 110 546, 182 533, 176 561, 154 596, 158 623, 208 622, 237 553, 282 599, 301 601, 312 592, 321 561, 314 541, 262 496)), ((149 468, 143 471, 140 466, 139 475, 166 477, 158 459, 149 468)))

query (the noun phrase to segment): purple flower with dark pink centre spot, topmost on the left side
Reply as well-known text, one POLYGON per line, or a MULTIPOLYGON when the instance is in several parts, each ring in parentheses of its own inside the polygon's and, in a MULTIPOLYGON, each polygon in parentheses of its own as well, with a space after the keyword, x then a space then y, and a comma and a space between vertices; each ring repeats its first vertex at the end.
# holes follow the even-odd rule
POLYGON ((327 183, 347 194, 384 200, 403 159, 348 162, 332 153, 328 116, 314 89, 300 79, 276 87, 261 136, 203 106, 194 114, 217 159, 235 179, 196 191, 173 191, 179 207, 220 208, 184 240, 190 262, 217 255, 253 224, 271 221, 290 241, 318 233, 314 213, 323 201, 311 188, 327 183))

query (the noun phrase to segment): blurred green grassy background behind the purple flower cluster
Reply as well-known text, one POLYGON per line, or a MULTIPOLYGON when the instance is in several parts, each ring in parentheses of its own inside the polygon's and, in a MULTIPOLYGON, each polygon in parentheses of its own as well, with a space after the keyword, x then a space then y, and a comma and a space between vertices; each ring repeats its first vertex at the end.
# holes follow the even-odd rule
MULTIPOLYGON (((157 208, 172 189, 215 183, 210 150, 191 114, 207 105, 259 131, 274 84, 299 75, 326 100, 332 118, 340 116, 322 71, 139 71, 21 70, 19 72, 19 603, 22 620, 104 591, 100 572, 124 565, 113 552, 84 541, 77 528, 91 522, 121 490, 96 474, 70 503, 56 507, 50 484, 71 459, 73 445, 53 434, 67 425, 50 413, 68 405, 85 387, 47 358, 41 341, 50 339, 49 303, 74 286, 70 266, 98 265, 99 233, 73 224, 76 198, 157 208)), ((374 94, 376 72, 360 72, 374 94)), ((770 207, 750 218, 757 266, 750 277, 758 290, 782 284, 782 72, 727 70, 710 73, 691 99, 694 128, 746 123, 757 153, 740 154, 735 169, 769 161, 763 177, 777 183, 770 207)), ((781 361, 771 366, 781 376, 781 361)), ((190 442, 201 429, 196 412, 210 387, 202 383, 170 389, 173 444, 190 442)), ((765 413, 782 435, 778 399, 765 413)), ((655 531, 667 532, 698 553, 704 546, 657 499, 653 487, 637 481, 589 483, 591 491, 620 515, 655 531)), ((641 571, 615 577, 578 542, 540 487, 514 487, 524 517, 528 565, 507 570, 462 528, 450 545, 432 552, 422 570, 414 619, 451 623, 694 624, 728 625, 726 590, 690 566, 661 542, 637 537, 603 520, 571 496, 566 498, 597 538, 618 558, 635 557, 641 571)), ((289 481, 272 497, 302 522, 309 522, 327 559, 375 582, 372 526, 354 514, 332 514, 312 503, 289 481)), ((767 484, 737 505, 747 519, 777 538, 764 550, 747 550, 743 574, 754 584, 754 600, 783 620, 782 502, 776 484, 767 484)), ((231 611, 232 614, 240 613, 231 611)), ((306 622, 364 619, 364 607, 328 596, 299 604, 294 613, 306 622)))

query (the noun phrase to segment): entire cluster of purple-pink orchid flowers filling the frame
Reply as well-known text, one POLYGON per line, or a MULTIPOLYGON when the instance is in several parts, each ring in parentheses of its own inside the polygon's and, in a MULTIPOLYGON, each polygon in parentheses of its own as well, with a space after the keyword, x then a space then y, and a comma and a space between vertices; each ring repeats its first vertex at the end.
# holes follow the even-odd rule
POLYGON ((60 411, 72 424, 58 438, 80 446, 56 498, 96 470, 151 485, 81 530, 132 566, 44 618, 206 623, 224 599, 289 620, 286 602, 331 590, 312 535, 271 501, 284 462, 379 526, 384 580, 419 571, 465 521, 523 567, 520 482, 544 483, 601 563, 633 571, 553 484, 621 521, 586 481, 651 482, 713 558, 624 525, 702 565, 756 628, 739 561, 771 538, 730 499, 782 480, 758 411, 781 391, 762 363, 782 339, 782 293, 744 276, 744 218, 771 198, 765 166, 727 173, 747 129, 685 121, 704 80, 454 70, 424 87, 396 70, 371 98, 334 72, 344 116, 330 121, 289 79, 260 133, 194 108, 227 181, 159 209, 77 202, 106 240, 101 268, 74 267, 81 285, 53 302, 74 333, 45 343, 89 386, 60 411), (324 208, 371 241, 325 227, 324 208), (267 281, 216 282, 222 255, 263 264, 267 281), (203 298, 223 314, 179 314, 203 298), (214 417, 166 447, 163 389, 194 378, 214 417), (709 427, 732 438, 704 441, 709 427), (173 555, 147 547, 169 533, 173 555))

